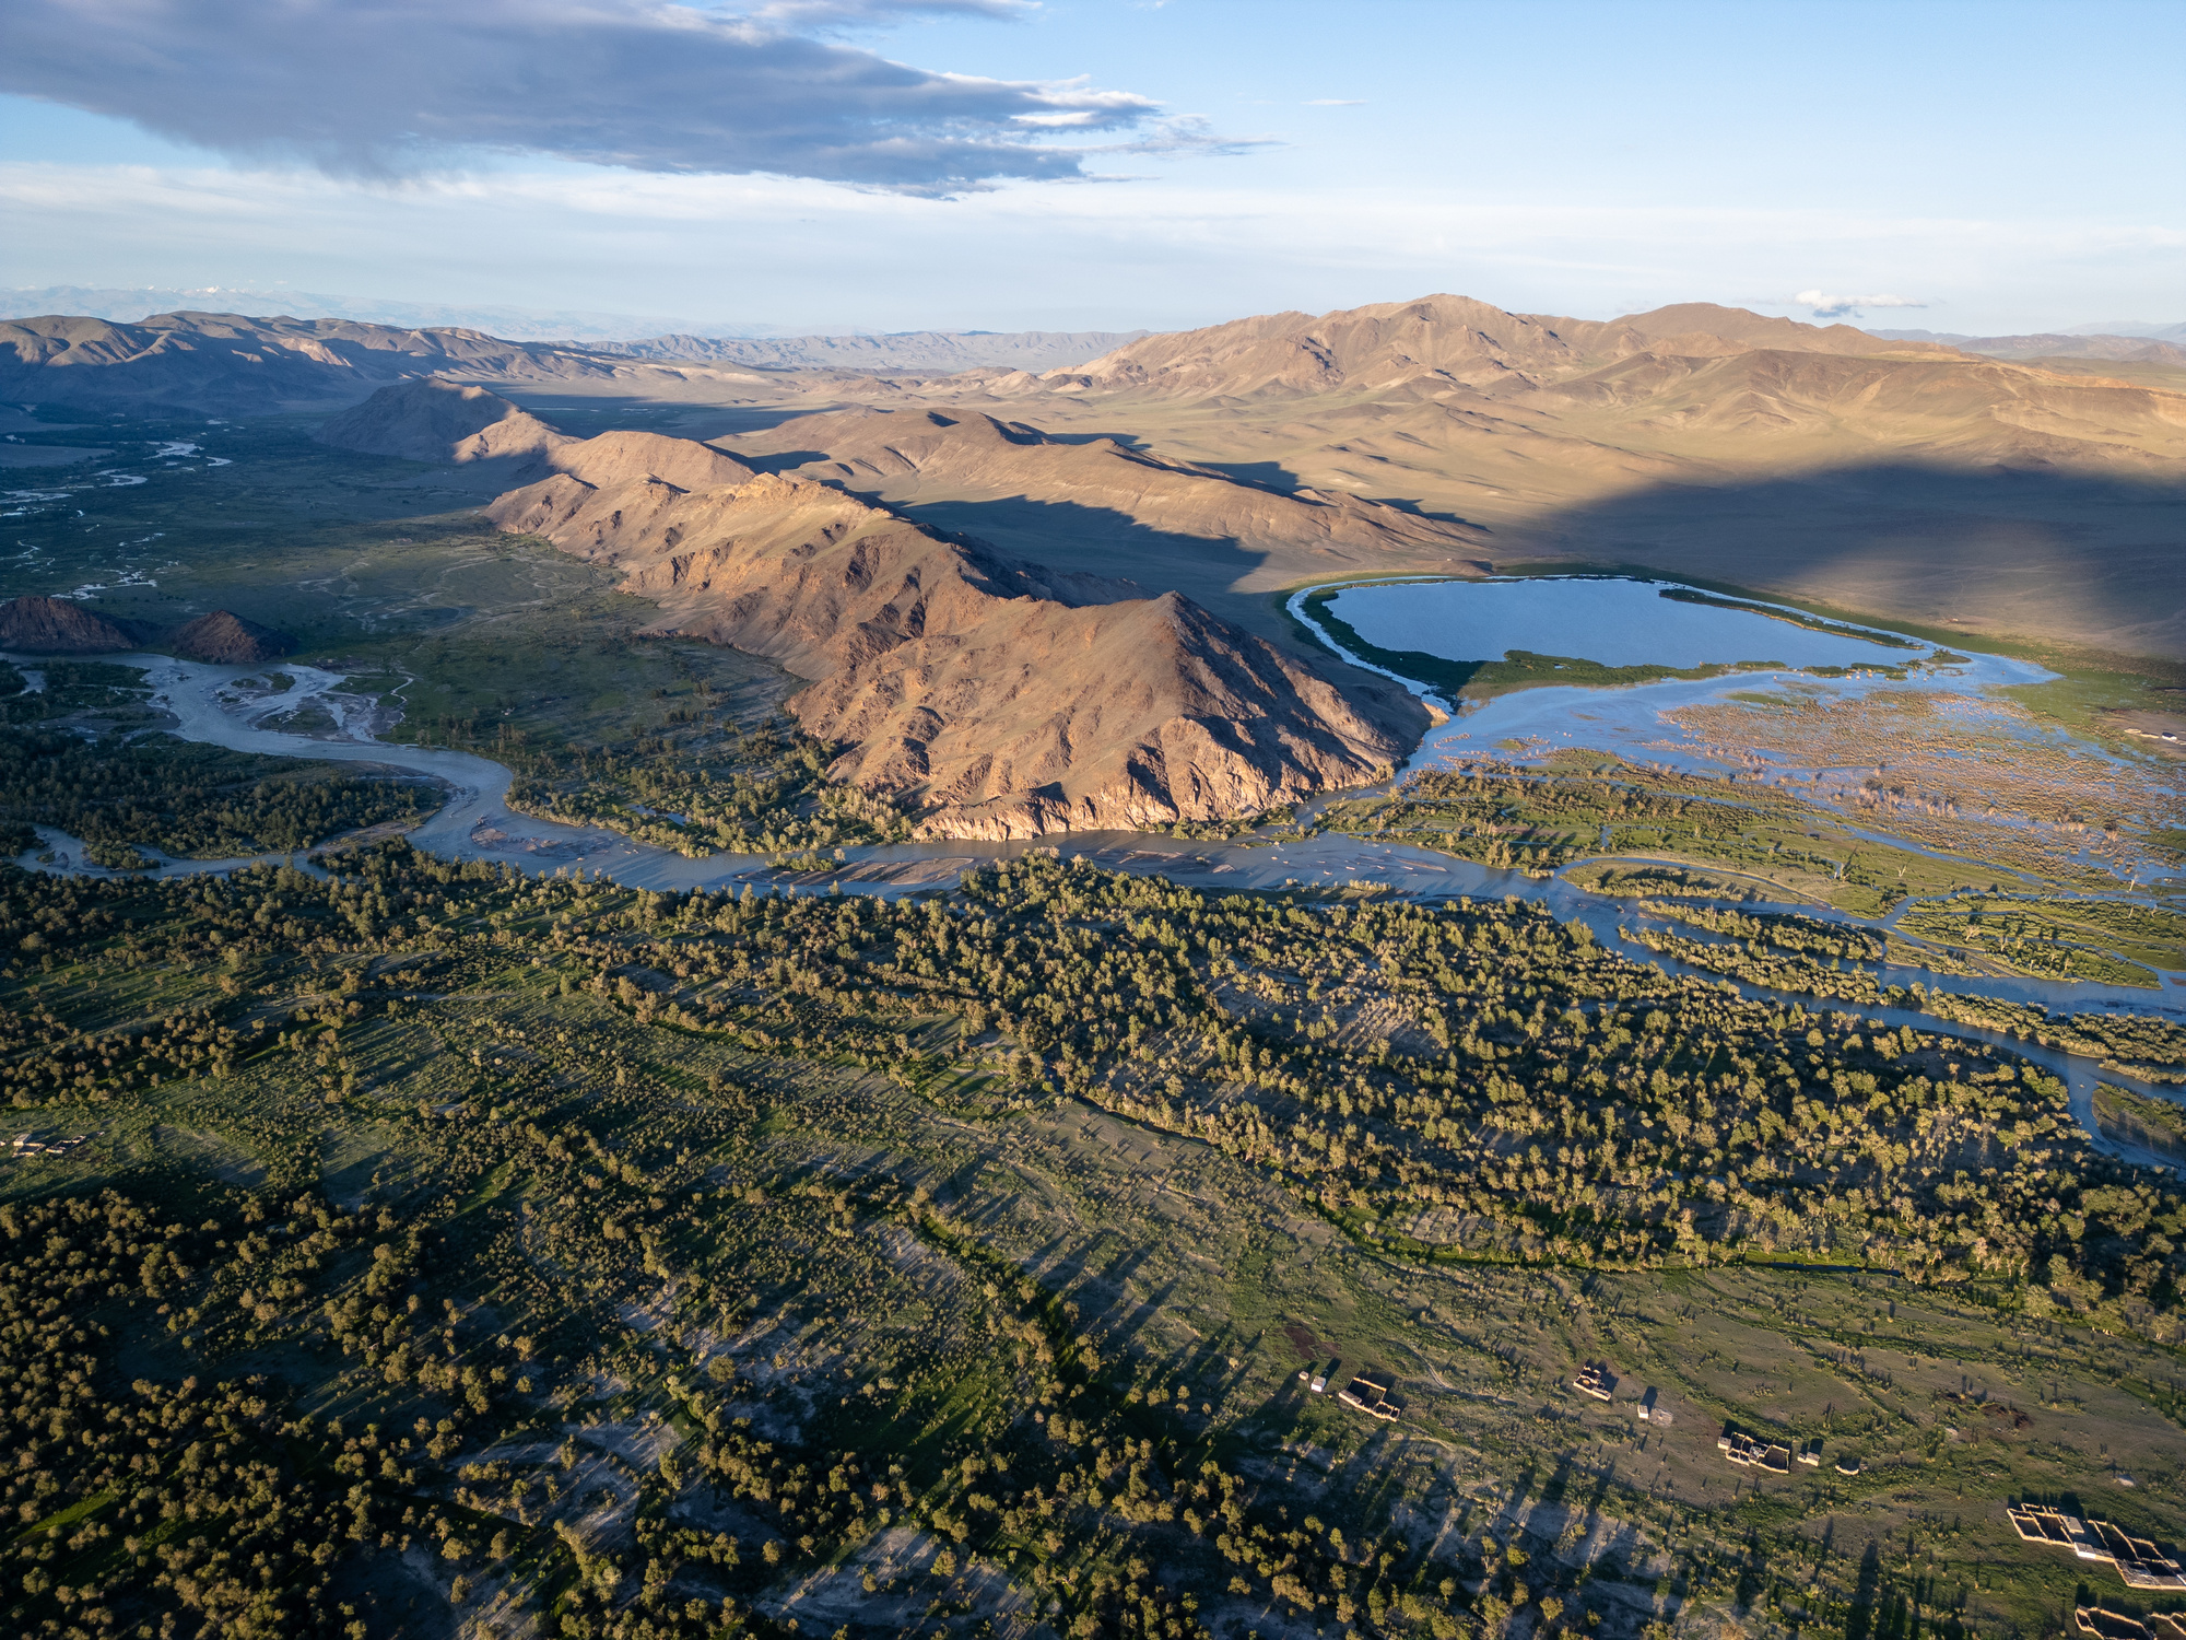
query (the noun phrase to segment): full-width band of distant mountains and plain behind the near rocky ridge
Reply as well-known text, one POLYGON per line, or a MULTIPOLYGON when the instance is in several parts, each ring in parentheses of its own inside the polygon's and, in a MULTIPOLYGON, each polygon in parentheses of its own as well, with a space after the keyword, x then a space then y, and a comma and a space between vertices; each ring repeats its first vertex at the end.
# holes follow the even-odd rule
MULTIPOLYGON (((743 429, 739 455, 772 472, 1030 562, 1102 562, 1277 643, 1283 584, 1583 560, 2186 658, 2186 597, 2151 595, 2177 584, 2186 367, 2151 337, 1946 345, 1712 304, 1567 319, 1427 295, 1150 335, 1062 367, 964 365, 1006 339, 962 332, 894 352, 741 341, 17 319, 0 321, 0 402, 337 411, 437 376, 546 422, 584 400, 586 431, 643 405, 678 431, 743 429), (859 407, 894 415, 844 415, 859 407), (1301 505, 1255 499, 1270 494, 1301 505)), ((1106 341, 1014 345, 1038 361, 1106 341)), ((424 459, 459 457, 442 442, 424 459)))

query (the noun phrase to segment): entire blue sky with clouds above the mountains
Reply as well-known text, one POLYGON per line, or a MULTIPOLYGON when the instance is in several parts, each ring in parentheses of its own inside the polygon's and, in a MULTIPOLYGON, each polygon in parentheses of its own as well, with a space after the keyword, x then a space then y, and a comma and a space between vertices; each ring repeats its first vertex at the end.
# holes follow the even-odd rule
POLYGON ((2186 4, 2123 0, 17 0, 0 284, 890 330, 1427 291, 2177 321, 2182 63, 2186 4))

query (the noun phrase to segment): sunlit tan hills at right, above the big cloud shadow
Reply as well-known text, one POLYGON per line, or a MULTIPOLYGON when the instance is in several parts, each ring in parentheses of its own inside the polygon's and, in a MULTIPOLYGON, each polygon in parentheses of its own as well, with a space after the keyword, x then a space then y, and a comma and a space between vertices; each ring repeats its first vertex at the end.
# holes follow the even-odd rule
POLYGON ((1384 433, 1419 444, 1410 461, 1379 450, 1392 466, 1476 468, 1500 483, 1491 475, 1515 459, 1532 475, 1524 488, 1541 494, 1664 464, 1723 470, 1878 448, 1972 461, 2186 459, 2186 400, 2158 387, 1703 302, 1605 321, 1452 295, 1277 313, 1148 337, 1076 372, 971 372, 918 389, 964 405, 1080 400, 1108 418, 1130 405, 1159 429, 1189 415, 1191 450, 1218 459, 1309 446, 1316 433, 1323 446, 1384 433), (1849 437, 1786 448, 1782 433, 1801 429, 1849 437), (1465 433, 1480 446, 1469 459, 1465 433))

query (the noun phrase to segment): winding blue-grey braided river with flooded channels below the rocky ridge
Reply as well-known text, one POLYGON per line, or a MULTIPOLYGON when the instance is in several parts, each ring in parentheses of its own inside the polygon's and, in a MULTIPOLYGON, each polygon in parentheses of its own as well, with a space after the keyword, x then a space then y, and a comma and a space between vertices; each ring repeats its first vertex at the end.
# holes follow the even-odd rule
MULTIPOLYGON (((1478 588, 1478 584, 1473 584, 1478 588)), ((1495 586, 1495 584, 1489 584, 1495 586)), ((1535 582, 1532 586, 1543 593, 1556 582, 1535 582)), ((1563 584, 1572 586, 1572 584, 1563 584)), ((1653 599, 1655 588, 1650 584, 1629 584, 1646 586, 1644 597, 1653 599)), ((1312 612, 1303 608, 1305 597, 1314 588, 1298 593, 1292 599, 1292 612, 1298 619, 1312 619, 1312 612)), ((1392 593, 1397 588, 1382 588, 1392 593)), ((1403 649, 1417 649, 1421 632, 1432 630, 1432 608, 1421 610, 1417 595, 1427 588, 1408 586, 1403 593, 1414 595, 1397 601, 1384 601, 1384 610, 1395 617, 1397 625, 1386 625, 1390 636, 1410 639, 1401 643, 1403 649), (1406 625, 1408 623, 1408 625, 1406 625)), ((1344 593, 1351 597, 1351 593, 1344 593)), ((1591 608, 1574 610, 1574 621, 1583 628, 1587 621, 1600 623, 1602 632, 1618 632, 1626 628, 1629 612, 1615 606, 1613 595, 1602 599, 1598 593, 1587 593, 1591 608), (1583 619, 1578 619, 1583 617, 1583 619)), ((1642 614, 1650 610, 1633 606, 1642 614)), ((1353 630, 1366 632, 1373 610, 1362 610, 1358 606, 1347 606, 1342 610, 1353 630), (1351 617, 1368 617, 1353 621, 1351 617)), ((1532 621, 1539 617, 1537 608, 1524 608, 1524 619, 1532 621)), ((1674 612, 1681 634, 1677 641, 1683 645, 1681 654, 1696 654, 1692 645, 1690 610, 1681 608, 1674 612)), ((1740 614, 1729 610, 1703 610, 1703 614, 1727 614, 1740 623, 1777 625, 1758 614, 1740 614)), ((1583 630, 1574 632, 1574 621, 1567 621, 1559 636, 1563 645, 1570 645, 1574 636, 1585 641, 1583 630)), ((1320 628, 1331 647, 1342 649, 1338 634, 1329 634, 1320 628)), ((1469 639, 1473 649, 1484 649, 1495 643, 1502 634, 1489 634, 1482 639, 1469 639)), ((1672 634, 1664 634, 1668 641, 1672 634)), ((1386 643, 1384 636, 1375 634, 1371 641, 1382 647, 1399 647, 1386 643)), ((1456 647, 1456 645, 1452 645, 1456 647)), ((1502 647, 1526 647, 1515 639, 1502 647)), ((1609 647, 1600 641, 1598 647, 1609 647)), ((1664 647, 1664 645, 1650 645, 1664 647)), ((1705 647, 1705 645, 1701 645, 1705 647)), ((1786 645, 1777 643, 1775 649, 1786 645)), ((1871 649, 1871 645, 1856 645, 1858 649, 1871 649)), ((1921 645, 1924 654, 1935 654, 1930 645, 1921 645)), ((1495 654, 1495 649, 1489 649, 1495 654)), ((1889 654, 1873 649, 1880 656, 1882 667, 1902 663, 1904 654, 1889 654)), ((1629 684, 1618 689, 1585 689, 1585 687, 1539 687, 1524 689, 1517 693, 1500 695, 1482 706, 1469 708, 1462 715, 1449 717, 1438 724, 1412 754, 1399 778, 1410 772, 1432 770, 1449 765, 1465 759, 1476 759, 1489 748, 1502 746, 1528 746, 1539 750, 1554 748, 1594 748, 1605 752, 1618 752, 1633 761, 1653 761, 1657 765, 1685 768, 1692 772, 1716 772, 1716 768, 1705 748, 1692 741, 1666 713, 1681 706, 1712 702, 1729 695, 1731 691, 1751 691, 1755 687, 1766 687, 1771 682, 1784 684, 1795 682, 1803 691, 1825 691, 1841 698, 1854 698, 1865 691, 1878 689, 1939 689, 1948 687, 1954 693, 1970 693, 1981 689, 1991 689, 2000 684, 2024 684, 2040 682, 2048 673, 2024 660, 2011 660, 2002 656, 1941 656, 1948 665, 1915 665, 1897 667, 1900 676, 1891 676, 1884 669, 1860 673, 1852 669, 1849 676, 1817 676, 1810 671, 1814 665, 1827 665, 1834 671, 1847 671, 1845 660, 1849 652, 1845 641, 1834 634, 1801 634, 1801 654, 1786 660, 1779 669, 1760 671, 1742 669, 1720 678, 1701 680, 1661 680, 1629 684), (1819 636, 1821 643, 1803 645, 1803 636, 1819 636), (1806 649, 1812 649, 1808 654, 1806 649)), ((35 669, 42 665, 37 656, 4 656, 15 665, 35 669)), ((1371 671, 1382 671, 1384 676, 1397 678, 1414 693, 1423 698, 1434 695, 1432 687, 1421 684, 1412 678, 1403 678, 1373 660, 1360 658, 1347 652, 1347 658, 1360 660, 1371 671)), ((1725 658, 1720 654, 1709 658, 1725 658)), ((201 665, 190 660, 175 660, 171 656, 155 654, 129 654, 129 656, 103 656, 131 669, 144 673, 144 682, 151 687, 151 706, 171 715, 173 724, 168 733, 188 739, 203 741, 212 746, 225 746, 238 752, 260 752, 273 757, 299 757, 319 759, 328 763, 359 763, 376 772, 424 776, 444 787, 446 800, 437 813, 433 813, 424 824, 409 833, 409 842, 415 848, 424 848, 444 859, 485 859, 507 864, 527 872, 586 872, 601 875, 627 888, 649 888, 649 890, 734 890, 745 883, 756 886, 761 892, 866 892, 866 894, 905 894, 905 892, 931 892, 955 886, 955 881, 971 868, 982 866, 992 859, 1012 859, 1030 851, 1056 851, 1067 855, 1082 855, 1089 864, 1104 866, 1108 870, 1141 872, 1172 879, 1180 886, 1202 888, 1202 890, 1327 890, 1342 886, 1368 886, 1384 894, 1408 897, 1427 903, 1456 901, 1456 899, 1528 899, 1546 903, 1559 918, 1583 921, 1594 929, 1596 938, 1631 958, 1666 973, 1683 973, 1709 984, 1736 988, 1749 997, 1768 997, 1779 1001, 1799 1001, 1812 1008, 1825 1008, 1832 1012, 1856 1015, 1858 1019, 1873 1021, 1878 1026, 1913 1026, 1915 1030, 1959 1036, 1967 1041, 1987 1041, 2000 1045, 2026 1061, 2044 1065, 2055 1076, 2066 1082, 2070 1093, 2072 1115, 2088 1131, 2090 1141, 2109 1155, 2142 1165, 2166 1168, 2171 1165, 2164 1157, 2140 1150, 2131 1144, 2123 1144, 2103 1131, 2094 1122, 2094 1089, 2096 1080, 2105 1080, 2118 1087, 2129 1087, 2134 1091, 2166 1098, 2173 1102, 2186 1102, 2179 1089, 2164 1085, 2140 1082, 2138 1078, 2125 1076, 2116 1069, 2101 1069, 2094 1058, 2083 1058, 2079 1054, 2064 1052, 2061 1047, 2044 1047, 2020 1036, 2009 1036, 2005 1032, 1994 1032, 1978 1026, 1967 1026, 1959 1021, 1937 1019, 1935 1015, 1921 1012, 1917 1008, 1895 1008, 1895 1006, 1865 1006, 1814 997, 1806 997, 1790 991, 1775 991, 1768 986, 1758 986, 1749 982, 1725 980, 1714 973, 1703 973, 1699 969, 1688 969, 1672 958, 1659 956, 1624 936, 1624 929, 1677 927, 1679 934, 1694 938, 1696 929, 1683 925, 1670 925, 1640 912, 1631 901, 1613 901, 1602 894, 1587 892, 1574 883, 1563 881, 1563 877, 1528 877, 1519 870, 1480 866, 1467 859, 1454 859, 1427 848, 1417 848, 1408 844, 1382 844, 1373 840, 1325 833, 1325 835, 1248 835, 1235 842, 1185 842, 1176 837, 1165 837, 1159 833, 1135 833, 1135 831, 1073 831, 1062 837, 1047 840, 1021 840, 1021 842, 968 842, 968 840, 938 840, 938 842, 905 842, 888 846, 850 846, 837 851, 835 864, 822 870, 791 870, 774 859, 761 855, 728 855, 715 853, 706 857, 686 857, 669 848, 658 848, 651 844, 632 842, 621 833, 568 827, 553 820, 542 820, 527 813, 516 813, 507 807, 507 794, 514 783, 512 770, 492 759, 477 757, 470 752, 442 750, 442 748, 420 748, 402 746, 391 741, 378 741, 372 735, 372 719, 376 704, 356 695, 343 695, 341 682, 343 673, 328 671, 308 665, 282 663, 280 671, 291 678, 291 687, 280 695, 267 695, 262 689, 240 687, 245 680, 256 680, 267 676, 267 667, 238 667, 238 665, 201 665), (295 713, 299 706, 317 702, 326 708, 326 715, 334 722, 332 730, 319 735, 297 735, 280 728, 265 726, 269 717, 284 717, 295 713)), ((1661 656, 1655 660, 1666 660, 1668 665, 1692 665, 1692 660, 1681 660, 1677 654, 1661 656)), ((1307 822, 1312 813, 1338 798, 1364 796, 1362 792, 1331 794, 1320 798, 1316 805, 1301 807, 1298 820, 1307 822)), ((1900 844, 1904 846, 1904 844, 1900 844)), ((155 851, 142 851, 155 855, 155 851)), ((230 872, 243 866, 265 864, 265 862, 286 862, 289 855, 267 855, 256 859, 160 859, 151 872, 153 877, 179 877, 199 872, 230 872)), ((39 829, 39 846, 24 855, 17 864, 28 870, 52 870, 87 877, 107 877, 120 872, 107 872, 92 866, 85 859, 83 844, 59 831, 39 829)), ((317 870, 308 862, 306 868, 317 870)), ((2136 892, 2138 883, 2120 881, 2120 894, 2144 899, 2136 892)), ((2153 903, 2149 899, 2147 903, 2153 903)), ((1740 910, 1797 910, 1801 916, 1841 921, 1856 927, 1873 927, 1871 921, 1849 916, 1843 912, 1817 910, 1814 905, 1777 905, 1742 901, 1740 910)), ((1876 982, 1884 988, 1904 988, 1911 993, 1921 986, 1928 993, 1963 993, 1981 997, 2000 997, 2009 1001, 2037 1004, 2048 1008, 2053 1015, 2061 1012, 2134 1012, 2134 1015, 2160 1015, 2186 1019, 2186 988, 2182 980, 2186 975, 2164 975, 2164 984, 2158 991, 2134 991, 2123 986, 2103 986, 2092 982, 2068 982, 2068 980, 2024 980, 2024 977, 1954 977, 1937 975, 1926 969, 1906 969, 1889 964, 1860 964, 1867 967, 1876 982)))

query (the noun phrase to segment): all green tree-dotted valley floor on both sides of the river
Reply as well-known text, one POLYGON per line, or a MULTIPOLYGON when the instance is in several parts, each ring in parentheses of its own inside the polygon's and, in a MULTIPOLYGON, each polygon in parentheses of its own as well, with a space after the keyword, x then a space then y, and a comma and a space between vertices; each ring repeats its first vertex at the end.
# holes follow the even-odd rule
MULTIPOLYGON (((645 606, 492 538, 453 479, 278 424, 155 435, 234 466, 11 518, 7 590, 160 536, 136 612, 284 625, 400 700, 393 739, 505 757, 529 805, 686 848, 896 827, 822 803, 778 676, 634 641, 645 606)), ((144 765, 114 746, 151 724, 127 673, 46 684, 9 700, 15 824, 289 851, 415 803, 354 765, 144 765)), ((1779 995, 1524 901, 1047 855, 892 901, 372 835, 324 875, 9 872, 0 1098, 83 1144, 0 1174, 7 1625, 1904 1640, 2055 1633, 2081 1585, 2186 1607, 2000 1509, 2179 1531, 2173 1179, 2096 1155, 2037 1065, 1878 1023, 1858 964, 1895 932, 1714 903, 1784 870, 1817 912, 1882 910, 1902 862, 1845 857, 1790 796, 1766 837, 1694 848, 1705 794, 1550 774, 1390 803, 1456 853, 1513 803, 1535 831, 1482 846, 1646 831, 1659 864, 1607 886, 1779 995), (1694 892, 1709 870, 1751 875, 1694 892), (1572 1389, 1587 1360, 1611 1402, 1572 1389), (1388 1373, 1403 1415, 1301 1369, 1388 1373), (1637 1419, 1650 1386, 1668 1419, 1637 1419), (1823 1463, 1733 1469, 1727 1421, 1823 1463)), ((1919 905, 1978 894, 1904 938, 1974 964, 2055 934, 2002 866, 1911 857, 1948 879, 1908 881, 1919 905)), ((1954 1006, 2186 1065, 2160 1021, 1954 1006)), ((2099 1109, 2175 1141, 2162 1102, 2099 1109)))

